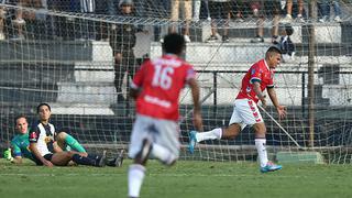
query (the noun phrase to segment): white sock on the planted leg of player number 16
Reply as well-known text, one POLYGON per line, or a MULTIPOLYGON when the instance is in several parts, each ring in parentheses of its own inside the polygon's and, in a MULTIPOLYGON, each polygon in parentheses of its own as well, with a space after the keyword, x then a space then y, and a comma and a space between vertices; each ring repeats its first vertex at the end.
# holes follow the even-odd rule
POLYGON ((144 179, 145 167, 132 164, 129 168, 129 197, 140 197, 141 186, 144 179))

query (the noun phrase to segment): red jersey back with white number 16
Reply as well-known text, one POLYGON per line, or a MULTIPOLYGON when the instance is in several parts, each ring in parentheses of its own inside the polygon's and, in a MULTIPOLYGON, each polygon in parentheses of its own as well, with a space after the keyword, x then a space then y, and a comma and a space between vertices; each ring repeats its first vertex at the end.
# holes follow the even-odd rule
POLYGON ((133 84, 142 88, 136 100, 138 113, 178 120, 179 92, 194 77, 193 67, 176 55, 163 55, 146 62, 133 79, 133 84))

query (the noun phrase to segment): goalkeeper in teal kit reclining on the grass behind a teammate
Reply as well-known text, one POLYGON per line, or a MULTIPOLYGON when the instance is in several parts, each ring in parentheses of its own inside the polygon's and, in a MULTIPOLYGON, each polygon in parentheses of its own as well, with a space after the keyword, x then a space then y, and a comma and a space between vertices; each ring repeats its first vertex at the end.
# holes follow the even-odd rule
MULTIPOLYGON (((33 156, 32 152, 30 151, 30 141, 29 141, 29 123, 25 116, 19 116, 15 118, 15 131, 16 135, 11 141, 11 150, 7 150, 3 154, 4 158, 11 161, 15 164, 22 163, 22 157, 30 158, 31 161, 37 164, 35 156, 33 156)), ((82 153, 87 155, 86 150, 78 143, 76 139, 72 135, 67 134, 66 132, 59 132, 56 135, 56 142, 63 151, 75 151, 78 153, 82 153)), ((123 161, 123 153, 121 151, 120 155, 117 158, 110 160, 107 162, 109 166, 121 166, 123 161)))

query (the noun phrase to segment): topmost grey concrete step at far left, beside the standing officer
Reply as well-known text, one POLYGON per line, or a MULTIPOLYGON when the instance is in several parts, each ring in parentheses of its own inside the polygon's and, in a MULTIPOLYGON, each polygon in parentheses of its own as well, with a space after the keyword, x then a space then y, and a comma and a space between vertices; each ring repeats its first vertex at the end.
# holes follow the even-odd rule
POLYGON ((108 42, 98 41, 0 41, 0 59, 13 61, 112 61, 108 42))

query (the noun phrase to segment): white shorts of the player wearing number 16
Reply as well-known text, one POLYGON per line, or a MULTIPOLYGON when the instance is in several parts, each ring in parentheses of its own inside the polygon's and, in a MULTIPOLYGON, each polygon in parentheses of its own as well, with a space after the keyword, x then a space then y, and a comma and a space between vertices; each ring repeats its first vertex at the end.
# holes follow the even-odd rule
POLYGON ((144 139, 168 148, 178 157, 179 127, 177 122, 138 114, 132 129, 129 157, 134 158, 141 151, 144 139))

